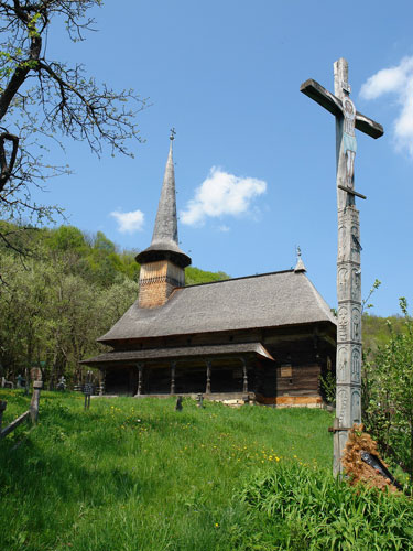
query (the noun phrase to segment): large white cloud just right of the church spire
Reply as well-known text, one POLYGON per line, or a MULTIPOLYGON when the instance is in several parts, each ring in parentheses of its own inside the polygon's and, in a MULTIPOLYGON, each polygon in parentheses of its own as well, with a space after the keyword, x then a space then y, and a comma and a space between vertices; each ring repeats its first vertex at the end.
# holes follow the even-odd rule
POLYGON ((246 214, 252 199, 265 190, 263 180, 238 177, 213 166, 208 177, 195 190, 195 197, 180 213, 180 219, 194 226, 204 224, 208 216, 217 218, 246 214))

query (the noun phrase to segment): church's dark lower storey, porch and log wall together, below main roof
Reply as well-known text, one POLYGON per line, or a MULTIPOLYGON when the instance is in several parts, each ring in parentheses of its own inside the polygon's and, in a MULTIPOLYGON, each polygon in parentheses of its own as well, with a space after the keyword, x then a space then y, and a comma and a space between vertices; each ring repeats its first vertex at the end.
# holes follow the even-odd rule
POLYGON ((227 403, 320 408, 319 376, 332 364, 329 345, 323 343, 312 337, 265 347, 253 342, 112 350, 87 364, 101 370, 105 393, 110 396, 203 395, 227 403))

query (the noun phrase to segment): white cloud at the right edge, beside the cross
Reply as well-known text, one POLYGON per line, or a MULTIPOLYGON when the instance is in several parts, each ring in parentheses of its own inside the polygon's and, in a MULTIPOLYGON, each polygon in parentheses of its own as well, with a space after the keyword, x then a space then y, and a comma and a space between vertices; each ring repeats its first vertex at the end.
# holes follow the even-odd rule
POLYGON ((394 121, 394 137, 398 149, 405 149, 413 156, 413 57, 404 57, 396 67, 384 68, 368 78, 360 96, 376 99, 393 93, 400 105, 394 121))

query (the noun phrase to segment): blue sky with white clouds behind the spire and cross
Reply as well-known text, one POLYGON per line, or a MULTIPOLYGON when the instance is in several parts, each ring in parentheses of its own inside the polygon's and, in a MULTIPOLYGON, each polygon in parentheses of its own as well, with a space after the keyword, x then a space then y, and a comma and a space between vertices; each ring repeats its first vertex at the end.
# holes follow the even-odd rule
POLYGON ((134 159, 100 160, 66 142, 74 174, 39 198, 121 248, 145 248, 173 126, 180 240, 193 264, 232 277, 284 270, 300 245, 334 306, 335 123, 300 85, 314 78, 333 91, 343 56, 356 107, 385 131, 358 132, 362 294, 382 281, 379 315, 398 312, 401 295, 413 301, 411 0, 107 0, 95 17, 99 32, 84 43, 51 33, 48 57, 81 61, 98 82, 148 97, 138 117, 145 142, 131 144, 134 159), (129 214, 123 231, 119 214, 129 214))

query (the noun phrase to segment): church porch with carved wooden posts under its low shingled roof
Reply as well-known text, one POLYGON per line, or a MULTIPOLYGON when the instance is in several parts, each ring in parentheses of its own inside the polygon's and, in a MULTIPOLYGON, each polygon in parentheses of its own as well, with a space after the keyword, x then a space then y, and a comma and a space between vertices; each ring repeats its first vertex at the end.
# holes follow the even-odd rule
MULTIPOLYGON (((260 343, 148 350, 122 350, 87 360, 102 374, 105 392, 135 397, 204 395, 238 400, 254 392, 260 357, 273 358, 260 343)), ((224 399, 224 398, 222 398, 224 399)))

